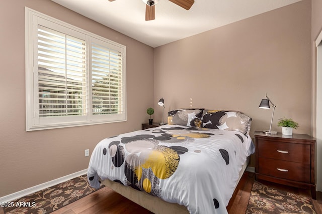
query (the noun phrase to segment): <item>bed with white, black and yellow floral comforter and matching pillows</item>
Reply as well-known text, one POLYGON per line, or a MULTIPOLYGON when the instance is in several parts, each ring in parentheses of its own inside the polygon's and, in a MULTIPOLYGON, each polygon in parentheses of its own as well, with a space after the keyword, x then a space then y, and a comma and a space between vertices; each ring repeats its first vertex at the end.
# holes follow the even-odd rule
POLYGON ((179 109, 167 125, 103 139, 88 168, 102 182, 154 213, 227 213, 248 157, 251 118, 238 111, 179 109))

